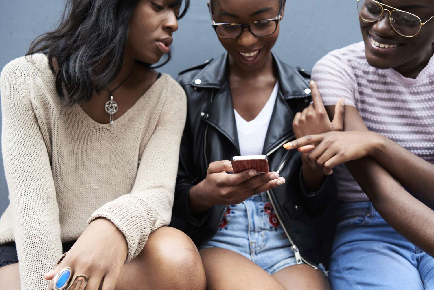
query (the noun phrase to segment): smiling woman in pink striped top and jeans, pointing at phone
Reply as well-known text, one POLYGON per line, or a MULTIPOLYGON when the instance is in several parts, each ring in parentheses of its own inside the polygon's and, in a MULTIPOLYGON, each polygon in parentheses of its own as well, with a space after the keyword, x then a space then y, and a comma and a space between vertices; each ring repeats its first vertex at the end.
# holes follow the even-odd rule
POLYGON ((294 119, 319 135, 285 147, 335 172, 333 289, 434 289, 434 2, 357 2, 364 41, 316 63, 323 103, 294 119), (320 134, 341 98, 350 132, 320 134))

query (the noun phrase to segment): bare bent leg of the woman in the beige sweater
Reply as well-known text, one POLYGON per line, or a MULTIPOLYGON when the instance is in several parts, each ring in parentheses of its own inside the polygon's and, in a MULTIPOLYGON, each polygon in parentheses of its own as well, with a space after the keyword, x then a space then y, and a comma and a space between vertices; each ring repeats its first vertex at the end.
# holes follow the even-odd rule
POLYGON ((116 290, 204 290, 201 256, 182 231, 161 227, 149 235, 141 253, 122 267, 116 290))

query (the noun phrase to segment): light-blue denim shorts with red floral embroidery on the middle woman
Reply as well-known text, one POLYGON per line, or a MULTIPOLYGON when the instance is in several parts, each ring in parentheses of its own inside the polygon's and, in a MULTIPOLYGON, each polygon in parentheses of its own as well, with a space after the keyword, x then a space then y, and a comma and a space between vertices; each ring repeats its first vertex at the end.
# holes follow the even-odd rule
POLYGON ((233 250, 271 275, 297 264, 265 192, 228 206, 217 233, 202 249, 210 247, 233 250))

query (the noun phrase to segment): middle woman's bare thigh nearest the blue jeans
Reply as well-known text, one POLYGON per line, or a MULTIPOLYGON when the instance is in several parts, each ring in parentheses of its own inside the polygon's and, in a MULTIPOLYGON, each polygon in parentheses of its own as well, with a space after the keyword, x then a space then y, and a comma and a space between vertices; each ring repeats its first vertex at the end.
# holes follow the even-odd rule
POLYGON ((321 270, 315 270, 309 265, 300 264, 286 267, 273 274, 287 290, 331 290, 329 281, 321 270))

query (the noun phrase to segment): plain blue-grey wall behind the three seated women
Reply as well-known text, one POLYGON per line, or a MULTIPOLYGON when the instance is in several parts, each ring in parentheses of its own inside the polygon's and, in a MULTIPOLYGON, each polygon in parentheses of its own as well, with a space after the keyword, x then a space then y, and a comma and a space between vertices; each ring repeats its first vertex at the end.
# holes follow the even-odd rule
MULTIPOLYGON (((187 15, 174 34, 173 59, 160 70, 178 72, 224 52, 210 26, 207 0, 191 0, 187 15)), ((333 49, 362 40, 356 0, 287 0, 279 40, 274 47, 286 63, 311 69, 333 49)), ((62 13, 63 0, 0 0, 0 68, 23 56, 30 42, 52 30, 62 13)), ((9 204, 0 160, 0 214, 9 204)))

